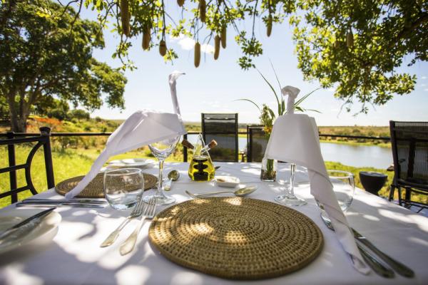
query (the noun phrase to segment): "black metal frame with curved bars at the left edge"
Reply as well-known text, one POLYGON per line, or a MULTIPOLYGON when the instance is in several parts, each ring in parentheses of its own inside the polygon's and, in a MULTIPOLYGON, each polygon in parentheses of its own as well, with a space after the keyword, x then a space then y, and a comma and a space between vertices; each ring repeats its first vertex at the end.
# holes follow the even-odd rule
POLYGON ((11 203, 18 202, 18 193, 29 190, 33 195, 37 194, 34 188, 33 181, 31 180, 31 162, 33 161, 36 151, 43 146, 44 160, 46 166, 46 180, 49 188, 55 187, 54 181, 54 167, 52 165, 51 155, 51 129, 47 127, 40 128, 40 135, 36 134, 21 134, 21 133, 6 133, 6 139, 0 140, 0 145, 7 145, 8 156, 9 156, 9 167, 0 168, 0 173, 9 172, 9 182, 11 190, 0 193, 0 199, 5 197, 11 197, 11 203), (36 142, 36 145, 32 147, 26 162, 20 165, 16 165, 15 159, 15 145, 24 144, 28 142, 36 142), (16 170, 25 171, 26 185, 18 187, 16 182, 16 170))

